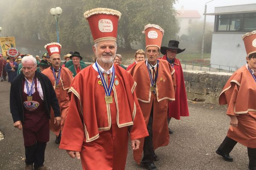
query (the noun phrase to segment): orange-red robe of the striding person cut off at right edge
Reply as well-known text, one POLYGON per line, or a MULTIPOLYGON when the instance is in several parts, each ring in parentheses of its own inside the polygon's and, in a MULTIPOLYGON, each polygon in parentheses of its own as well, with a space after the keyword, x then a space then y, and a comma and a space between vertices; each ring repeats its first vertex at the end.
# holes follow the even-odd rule
POLYGON ((223 88, 220 105, 227 104, 227 115, 235 115, 238 127, 230 128, 227 136, 246 147, 256 148, 256 82, 246 66, 239 68, 223 88))

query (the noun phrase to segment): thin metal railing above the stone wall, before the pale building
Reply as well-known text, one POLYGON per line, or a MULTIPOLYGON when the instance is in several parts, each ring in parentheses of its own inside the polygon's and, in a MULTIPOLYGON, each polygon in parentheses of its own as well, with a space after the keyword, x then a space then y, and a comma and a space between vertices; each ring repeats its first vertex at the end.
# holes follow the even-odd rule
POLYGON ((214 71, 214 72, 235 72, 238 67, 232 67, 227 65, 211 64, 206 62, 195 61, 181 61, 183 69, 187 70, 201 70, 201 71, 214 71))

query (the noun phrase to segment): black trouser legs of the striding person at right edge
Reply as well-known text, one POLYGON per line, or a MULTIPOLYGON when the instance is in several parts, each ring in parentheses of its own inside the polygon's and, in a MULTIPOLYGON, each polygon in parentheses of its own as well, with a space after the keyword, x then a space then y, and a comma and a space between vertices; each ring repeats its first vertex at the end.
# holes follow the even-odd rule
MULTIPOLYGON (((224 141, 218 147, 218 150, 221 150, 222 152, 229 154, 231 150, 233 150, 236 144, 237 142, 235 140, 226 136, 224 141)), ((248 151, 250 167, 256 167, 256 148, 247 147, 247 151, 248 151)))

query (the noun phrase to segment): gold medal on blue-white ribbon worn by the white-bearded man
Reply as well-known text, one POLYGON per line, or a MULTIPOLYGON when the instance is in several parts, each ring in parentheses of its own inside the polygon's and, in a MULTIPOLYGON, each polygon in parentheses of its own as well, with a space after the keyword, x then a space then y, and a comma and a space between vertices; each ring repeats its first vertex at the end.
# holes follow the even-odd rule
MULTIPOLYGON (((114 78, 115 78, 115 68, 113 66, 113 70, 112 70, 112 77, 111 77, 111 80, 110 80, 110 85, 109 87, 107 86, 107 83, 102 75, 102 72, 99 70, 99 67, 97 65, 97 62, 95 62, 95 65, 96 65, 96 68, 98 70, 98 73, 99 73, 99 76, 101 78, 101 82, 102 82, 102 85, 104 87, 104 90, 105 90, 105 102, 106 104, 110 104, 110 103, 113 103, 113 96, 111 96, 111 89, 113 88, 113 83, 114 83, 114 78)), ((98 82, 99 83, 99 82, 98 82)))

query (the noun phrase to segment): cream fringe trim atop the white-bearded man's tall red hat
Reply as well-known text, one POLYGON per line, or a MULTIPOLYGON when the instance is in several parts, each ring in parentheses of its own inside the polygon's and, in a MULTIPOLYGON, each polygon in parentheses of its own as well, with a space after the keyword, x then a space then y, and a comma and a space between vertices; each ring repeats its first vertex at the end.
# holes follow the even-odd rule
POLYGON ((121 18, 121 13, 119 11, 109 9, 109 8, 94 8, 89 11, 84 12, 85 19, 89 18, 95 14, 108 14, 108 15, 116 15, 119 19, 121 18))

